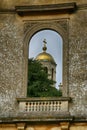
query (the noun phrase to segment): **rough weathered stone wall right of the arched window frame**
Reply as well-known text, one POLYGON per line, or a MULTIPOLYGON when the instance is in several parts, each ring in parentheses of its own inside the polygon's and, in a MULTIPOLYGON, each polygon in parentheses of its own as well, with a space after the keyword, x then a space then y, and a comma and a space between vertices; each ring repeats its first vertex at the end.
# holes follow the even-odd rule
POLYGON ((72 115, 87 115, 87 10, 69 21, 69 96, 72 115))

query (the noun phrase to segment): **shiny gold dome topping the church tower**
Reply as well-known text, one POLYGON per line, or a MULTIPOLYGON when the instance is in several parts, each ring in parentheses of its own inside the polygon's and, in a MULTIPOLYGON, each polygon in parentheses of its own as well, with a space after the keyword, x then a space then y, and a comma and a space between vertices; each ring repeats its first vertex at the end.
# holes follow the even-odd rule
POLYGON ((46 52, 40 53, 39 55, 37 55, 37 57, 35 59, 39 60, 39 61, 49 61, 51 63, 56 64, 55 61, 54 61, 54 58, 46 52))

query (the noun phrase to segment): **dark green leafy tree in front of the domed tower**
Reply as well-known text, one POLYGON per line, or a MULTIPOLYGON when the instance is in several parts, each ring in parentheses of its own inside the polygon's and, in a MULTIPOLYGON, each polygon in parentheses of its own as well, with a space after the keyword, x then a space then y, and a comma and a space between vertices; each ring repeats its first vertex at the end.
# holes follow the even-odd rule
POLYGON ((28 62, 28 97, 53 97, 61 96, 61 92, 52 87, 55 81, 48 79, 42 64, 33 59, 28 62))

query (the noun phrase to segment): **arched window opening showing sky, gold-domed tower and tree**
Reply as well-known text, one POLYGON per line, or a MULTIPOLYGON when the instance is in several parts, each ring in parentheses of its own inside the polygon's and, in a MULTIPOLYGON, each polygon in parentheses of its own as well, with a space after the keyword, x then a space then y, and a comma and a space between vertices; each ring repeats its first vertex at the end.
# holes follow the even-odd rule
POLYGON ((29 42, 28 87, 29 97, 61 96, 62 37, 53 30, 41 30, 29 42), (47 73, 45 73, 44 70, 47 73))

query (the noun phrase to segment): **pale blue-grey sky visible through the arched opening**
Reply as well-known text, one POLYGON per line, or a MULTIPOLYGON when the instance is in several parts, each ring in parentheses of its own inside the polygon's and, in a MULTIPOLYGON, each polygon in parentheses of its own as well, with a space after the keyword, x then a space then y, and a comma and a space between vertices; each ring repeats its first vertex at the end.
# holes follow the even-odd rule
POLYGON ((46 39, 47 53, 54 58, 56 67, 56 88, 62 83, 62 38, 53 30, 42 30, 33 35, 29 45, 29 58, 35 58, 43 52, 43 40, 46 39))

